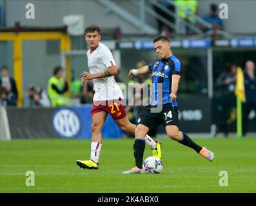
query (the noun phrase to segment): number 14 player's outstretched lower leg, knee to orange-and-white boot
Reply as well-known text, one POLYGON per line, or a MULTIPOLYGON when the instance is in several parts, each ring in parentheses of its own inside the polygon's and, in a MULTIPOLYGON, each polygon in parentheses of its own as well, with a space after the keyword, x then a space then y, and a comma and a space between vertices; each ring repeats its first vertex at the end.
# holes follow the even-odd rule
POLYGON ((206 147, 201 147, 200 145, 197 145, 188 135, 179 131, 179 128, 177 126, 166 126, 166 133, 173 140, 176 140, 182 145, 186 145, 187 147, 194 149, 197 153, 201 154, 201 156, 203 156, 207 160, 213 161, 214 154, 212 151, 206 149, 206 147))

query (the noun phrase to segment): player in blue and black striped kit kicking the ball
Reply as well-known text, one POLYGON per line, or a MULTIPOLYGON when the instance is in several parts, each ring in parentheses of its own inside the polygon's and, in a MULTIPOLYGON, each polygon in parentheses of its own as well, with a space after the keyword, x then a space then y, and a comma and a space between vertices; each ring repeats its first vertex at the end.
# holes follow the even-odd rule
POLYGON ((153 89, 150 93, 150 102, 141 113, 135 129, 135 143, 133 145, 135 167, 129 171, 124 171, 123 174, 143 173, 144 136, 150 129, 155 129, 160 124, 166 128, 166 133, 172 140, 191 147, 210 161, 214 159, 214 154, 211 151, 195 144, 188 135, 179 131, 177 91, 182 74, 182 64, 172 54, 170 41, 167 37, 159 36, 153 40, 153 44, 159 59, 139 70, 130 70, 128 74, 130 77, 134 77, 152 73, 153 89))

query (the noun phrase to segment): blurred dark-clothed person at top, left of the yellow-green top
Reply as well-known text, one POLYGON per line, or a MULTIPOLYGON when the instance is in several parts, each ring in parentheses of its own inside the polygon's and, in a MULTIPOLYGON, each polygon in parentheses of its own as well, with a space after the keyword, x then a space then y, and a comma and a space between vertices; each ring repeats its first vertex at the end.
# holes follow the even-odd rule
MULTIPOLYGON (((175 6, 173 3, 170 3, 170 1, 166 0, 155 0, 156 3, 158 3, 161 6, 164 6, 170 12, 173 12, 175 14, 175 6)), ((161 8, 158 6, 153 6, 155 13, 163 17, 164 19, 170 21, 171 23, 175 24, 175 17, 172 17, 172 15, 166 14, 161 8)), ((174 31, 174 29, 166 24, 164 24, 161 20, 157 19, 157 24, 158 24, 158 32, 159 35, 165 35, 166 37, 170 38, 170 33, 174 31)))

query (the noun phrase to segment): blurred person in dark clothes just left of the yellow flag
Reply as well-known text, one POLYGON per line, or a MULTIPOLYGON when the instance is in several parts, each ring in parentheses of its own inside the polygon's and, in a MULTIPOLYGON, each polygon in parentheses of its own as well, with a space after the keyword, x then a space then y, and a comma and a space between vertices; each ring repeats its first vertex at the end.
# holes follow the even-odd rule
POLYGON ((217 132, 223 132, 228 136, 228 125, 236 119, 235 109, 235 82, 237 65, 228 62, 225 66, 226 71, 223 71, 216 80, 215 88, 217 98, 213 102, 213 106, 217 106, 217 111, 221 114, 221 122, 217 126, 213 125, 212 136, 216 136, 217 132))

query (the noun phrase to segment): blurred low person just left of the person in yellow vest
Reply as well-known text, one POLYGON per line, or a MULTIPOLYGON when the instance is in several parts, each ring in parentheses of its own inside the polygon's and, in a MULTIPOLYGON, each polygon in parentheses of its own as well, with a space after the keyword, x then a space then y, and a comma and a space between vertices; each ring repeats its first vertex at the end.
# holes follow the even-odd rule
POLYGON ((50 107, 51 102, 48 98, 48 94, 44 89, 35 88, 30 86, 28 88, 28 99, 30 107, 50 107))

